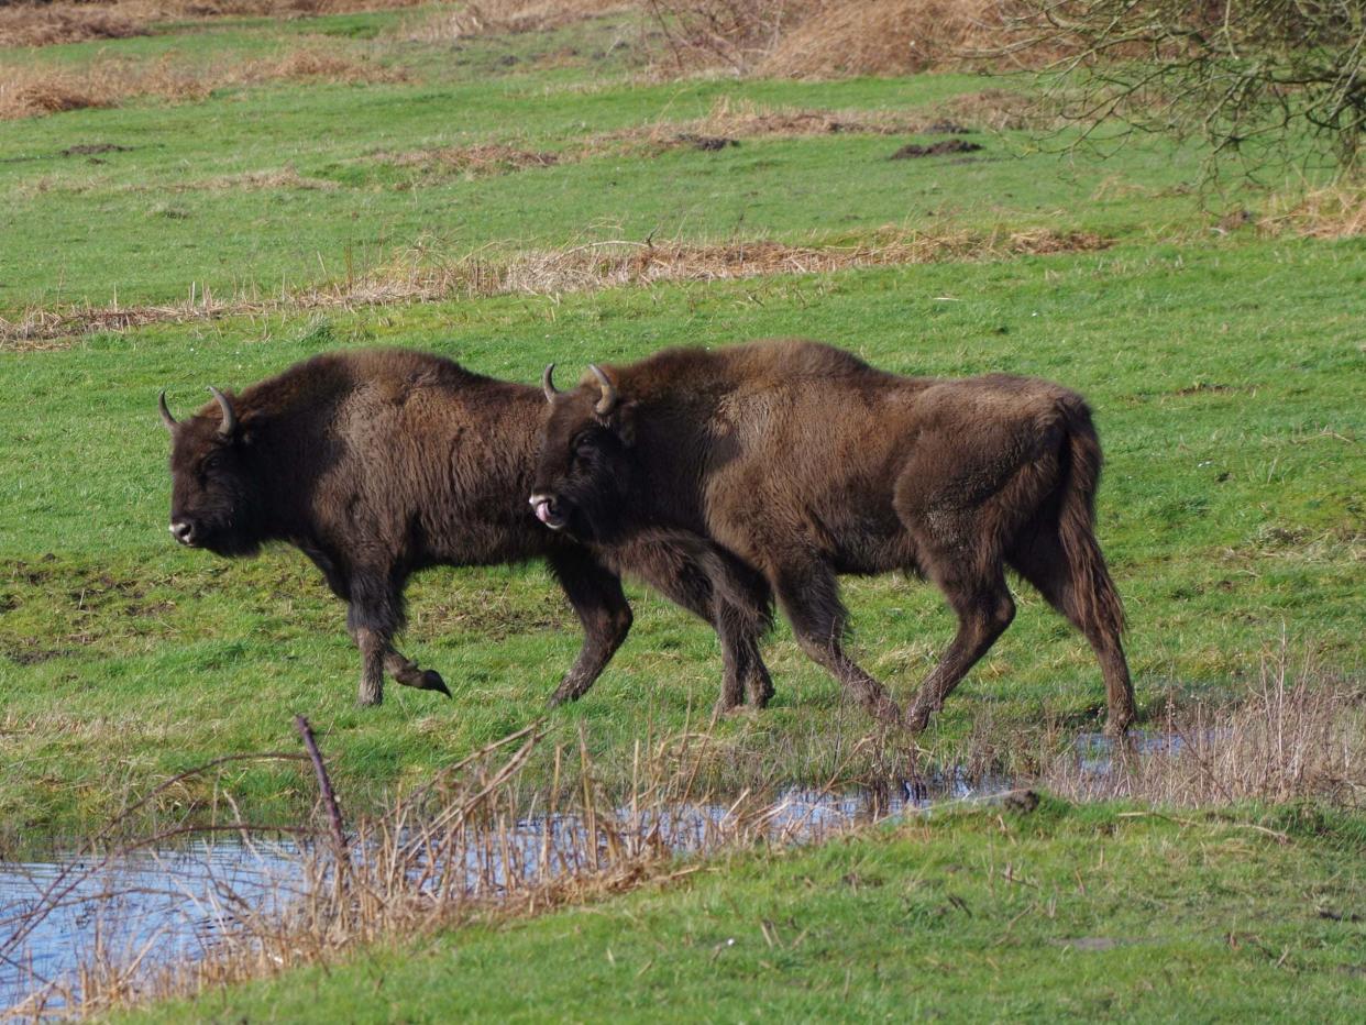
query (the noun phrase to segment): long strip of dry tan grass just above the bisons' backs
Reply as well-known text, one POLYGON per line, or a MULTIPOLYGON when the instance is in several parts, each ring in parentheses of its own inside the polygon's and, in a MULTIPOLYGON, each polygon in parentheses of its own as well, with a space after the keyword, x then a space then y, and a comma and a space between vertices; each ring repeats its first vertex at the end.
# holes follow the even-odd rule
POLYGON ((560 295, 652 286, 716 282, 769 275, 831 273, 859 266, 944 261, 1007 260, 1019 256, 1087 253, 1109 239, 1085 231, 958 231, 945 234, 888 228, 861 242, 795 246, 753 241, 717 245, 607 239, 557 250, 492 249, 456 258, 413 253, 367 273, 265 298, 220 297, 190 286, 183 302, 141 306, 41 308, 0 317, 0 350, 66 348, 81 335, 149 324, 184 324, 232 316, 438 302, 485 295, 560 295))

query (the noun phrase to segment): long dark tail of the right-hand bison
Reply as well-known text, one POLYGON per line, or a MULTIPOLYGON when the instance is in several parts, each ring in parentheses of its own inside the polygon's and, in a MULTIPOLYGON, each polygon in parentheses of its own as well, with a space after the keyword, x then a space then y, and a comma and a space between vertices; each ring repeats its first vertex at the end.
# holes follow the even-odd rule
POLYGON ((1124 630, 1124 605, 1096 540, 1096 492, 1101 478, 1101 443, 1091 413, 1081 398, 1061 406, 1065 425, 1059 536, 1071 573, 1074 615, 1102 633, 1124 630))

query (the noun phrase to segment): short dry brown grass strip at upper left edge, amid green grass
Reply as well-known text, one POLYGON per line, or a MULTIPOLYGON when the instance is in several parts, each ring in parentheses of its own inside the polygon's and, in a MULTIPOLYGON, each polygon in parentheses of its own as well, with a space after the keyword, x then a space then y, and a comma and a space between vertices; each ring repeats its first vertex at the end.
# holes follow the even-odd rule
POLYGON ((201 66, 169 55, 150 64, 102 57, 79 68, 10 68, 0 81, 0 120, 40 118, 90 107, 117 107, 139 97, 194 102, 204 100, 214 89, 229 86, 406 79, 407 72, 400 68, 320 48, 216 66, 201 66))

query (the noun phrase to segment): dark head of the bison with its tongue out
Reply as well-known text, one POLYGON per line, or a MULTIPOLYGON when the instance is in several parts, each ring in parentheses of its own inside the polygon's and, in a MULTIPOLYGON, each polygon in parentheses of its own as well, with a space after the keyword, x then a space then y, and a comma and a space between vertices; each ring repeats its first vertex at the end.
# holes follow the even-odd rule
POLYGON ((609 541, 630 507, 634 403, 623 402, 598 366, 593 380, 559 392, 545 368, 541 379, 550 415, 531 488, 531 508, 552 530, 583 541, 609 541))

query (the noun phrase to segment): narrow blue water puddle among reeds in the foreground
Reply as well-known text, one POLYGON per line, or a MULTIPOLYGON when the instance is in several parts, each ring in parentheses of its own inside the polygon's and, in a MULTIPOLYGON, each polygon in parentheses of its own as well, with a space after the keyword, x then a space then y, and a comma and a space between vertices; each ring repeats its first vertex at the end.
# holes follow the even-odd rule
MULTIPOLYGON (((425 850, 410 851, 402 864, 414 894, 441 888, 448 899, 454 879, 471 899, 499 899, 519 884, 553 882, 646 847, 703 854, 742 835, 807 843, 855 824, 1009 790, 1004 779, 952 776, 841 793, 788 790, 758 812, 753 805, 742 810, 738 801, 622 808, 609 821, 535 816, 497 828, 463 827, 460 842, 444 850, 433 850, 432 835, 423 834, 413 843, 425 850), (742 815, 743 832, 734 821, 742 815)), ((86 985, 82 973, 107 970, 93 966, 119 966, 137 991, 137 980, 158 968, 205 957, 240 932, 245 918, 281 913, 317 887, 317 854, 307 845, 232 836, 175 849, 0 862, 0 1017, 4 1009, 60 1013, 86 985)), ((366 846, 358 845, 350 857, 366 858, 366 846)))

